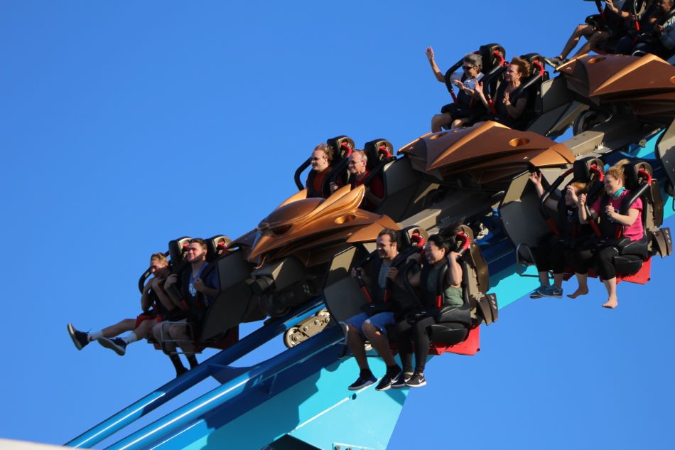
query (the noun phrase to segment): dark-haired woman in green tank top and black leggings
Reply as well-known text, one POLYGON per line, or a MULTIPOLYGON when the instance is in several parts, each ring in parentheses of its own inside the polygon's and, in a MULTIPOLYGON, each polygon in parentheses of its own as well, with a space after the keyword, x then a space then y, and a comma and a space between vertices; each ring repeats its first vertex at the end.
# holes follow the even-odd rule
POLYGON ((458 307, 464 304, 462 294, 462 267, 457 259, 460 257, 458 252, 454 252, 454 239, 445 240, 441 235, 432 235, 426 244, 424 257, 426 264, 422 271, 414 274, 410 278, 411 286, 417 287, 421 291, 422 308, 424 314, 409 314, 406 320, 396 324, 396 343, 401 355, 401 364, 403 364, 404 376, 398 377, 392 384, 394 388, 404 386, 421 387, 426 385, 424 378, 424 366, 429 353, 429 326, 439 322, 436 295, 438 288, 438 277, 443 274, 443 268, 448 264, 448 270, 445 279, 442 282, 443 299, 441 307, 458 307), (413 345, 415 348, 415 371, 413 369, 413 345))

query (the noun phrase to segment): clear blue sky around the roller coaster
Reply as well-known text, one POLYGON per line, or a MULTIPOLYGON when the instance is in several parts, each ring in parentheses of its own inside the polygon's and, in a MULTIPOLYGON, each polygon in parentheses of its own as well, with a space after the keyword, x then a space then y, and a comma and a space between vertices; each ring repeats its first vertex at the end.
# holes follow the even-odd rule
MULTIPOLYGON (((426 132, 448 102, 427 45, 443 68, 488 42, 555 55, 593 11, 581 0, 1 2, 0 436, 60 444, 169 380, 150 345, 77 352, 65 324, 135 316, 151 252, 252 229, 294 192, 318 142, 401 146, 426 132)), ((672 448, 674 264, 655 262, 648 286, 620 285, 616 311, 600 308, 597 283, 583 300, 504 309, 479 355, 433 360, 390 447, 672 448)))

